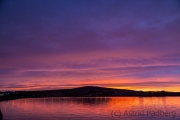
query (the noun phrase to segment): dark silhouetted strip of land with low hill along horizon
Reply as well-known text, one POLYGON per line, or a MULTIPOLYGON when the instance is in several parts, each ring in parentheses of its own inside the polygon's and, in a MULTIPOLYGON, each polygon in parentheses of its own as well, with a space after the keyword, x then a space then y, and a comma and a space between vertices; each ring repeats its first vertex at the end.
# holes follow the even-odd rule
POLYGON ((44 91, 9 91, 0 92, 0 101, 19 98, 38 98, 38 97, 163 97, 180 96, 180 92, 166 91, 134 91, 126 89, 112 89, 95 86, 85 86, 74 89, 44 90, 44 91))

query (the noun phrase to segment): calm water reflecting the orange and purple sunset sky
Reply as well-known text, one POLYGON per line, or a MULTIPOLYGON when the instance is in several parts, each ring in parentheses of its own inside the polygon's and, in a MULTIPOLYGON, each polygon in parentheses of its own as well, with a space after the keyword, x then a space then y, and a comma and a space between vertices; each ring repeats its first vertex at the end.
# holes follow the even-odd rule
POLYGON ((179 120, 180 97, 31 98, 0 109, 3 120, 179 120))

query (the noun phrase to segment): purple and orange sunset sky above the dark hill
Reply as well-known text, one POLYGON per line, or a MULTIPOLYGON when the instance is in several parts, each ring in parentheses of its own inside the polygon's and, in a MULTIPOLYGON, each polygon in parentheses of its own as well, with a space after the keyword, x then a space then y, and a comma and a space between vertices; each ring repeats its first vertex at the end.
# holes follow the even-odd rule
POLYGON ((179 0, 0 0, 0 91, 180 91, 179 0))

